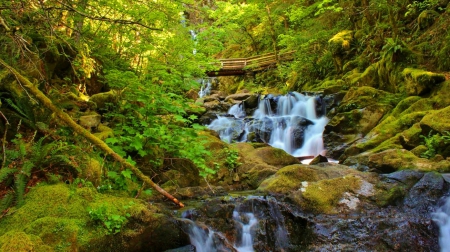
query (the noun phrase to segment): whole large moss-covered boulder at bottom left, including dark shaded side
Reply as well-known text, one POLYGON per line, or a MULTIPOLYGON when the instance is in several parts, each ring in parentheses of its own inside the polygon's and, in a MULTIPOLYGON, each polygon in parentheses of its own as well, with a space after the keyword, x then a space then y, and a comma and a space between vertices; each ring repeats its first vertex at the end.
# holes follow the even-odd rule
MULTIPOLYGON (((175 248, 179 229, 141 200, 97 193, 78 185, 39 185, 20 208, 0 219, 1 251, 152 251, 175 248), (108 228, 106 222, 115 222, 108 228), (149 234, 161 226, 165 239, 149 234), (115 234, 114 234, 115 233, 115 234), (45 245, 44 245, 45 244, 45 245), (11 250, 12 249, 12 250, 11 250)), ((186 236, 183 236, 187 239, 186 236)))

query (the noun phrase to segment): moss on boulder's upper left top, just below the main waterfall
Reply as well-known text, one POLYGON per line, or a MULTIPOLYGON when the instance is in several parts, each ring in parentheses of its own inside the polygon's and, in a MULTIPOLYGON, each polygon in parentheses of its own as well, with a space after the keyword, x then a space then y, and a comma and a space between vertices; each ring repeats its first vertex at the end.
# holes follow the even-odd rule
POLYGON ((289 165, 278 170, 274 176, 264 180, 258 190, 276 193, 298 190, 303 181, 317 181, 319 179, 317 172, 317 170, 306 165, 289 165))

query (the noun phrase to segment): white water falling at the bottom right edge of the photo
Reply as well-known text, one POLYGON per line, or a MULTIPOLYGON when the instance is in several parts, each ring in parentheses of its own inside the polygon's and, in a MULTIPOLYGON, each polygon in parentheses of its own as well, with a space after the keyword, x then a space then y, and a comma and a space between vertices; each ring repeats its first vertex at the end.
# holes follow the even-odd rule
POLYGON ((450 197, 442 207, 432 214, 432 218, 439 226, 441 252, 450 252, 450 197))

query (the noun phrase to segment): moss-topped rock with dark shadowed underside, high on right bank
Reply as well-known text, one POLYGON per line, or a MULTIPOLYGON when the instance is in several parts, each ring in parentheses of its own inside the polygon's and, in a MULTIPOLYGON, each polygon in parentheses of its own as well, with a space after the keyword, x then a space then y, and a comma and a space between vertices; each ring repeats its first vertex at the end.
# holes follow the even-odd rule
POLYGON ((408 95, 423 95, 438 83, 445 81, 443 74, 432 73, 422 69, 405 68, 402 75, 406 80, 405 89, 408 95))

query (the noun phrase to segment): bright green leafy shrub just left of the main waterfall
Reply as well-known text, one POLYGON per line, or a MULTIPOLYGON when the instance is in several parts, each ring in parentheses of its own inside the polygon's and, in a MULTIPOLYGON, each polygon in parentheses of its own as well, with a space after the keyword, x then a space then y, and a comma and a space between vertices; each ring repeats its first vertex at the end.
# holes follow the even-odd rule
MULTIPOLYGON (((130 77, 128 72, 125 75, 130 77)), ((203 146, 206 140, 197 134, 204 127, 195 123, 195 115, 187 115, 185 108, 189 104, 170 86, 138 81, 135 77, 135 81, 128 82, 123 98, 126 102, 122 107, 106 115, 114 122, 114 137, 106 139, 106 143, 118 154, 132 160, 154 156, 154 150, 161 149, 163 157, 191 160, 202 176, 214 173, 204 162, 210 155, 203 146)), ((152 161, 157 166, 163 160, 152 161)))

